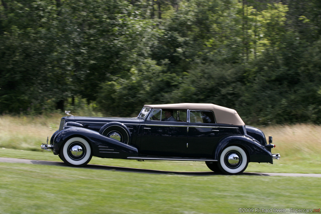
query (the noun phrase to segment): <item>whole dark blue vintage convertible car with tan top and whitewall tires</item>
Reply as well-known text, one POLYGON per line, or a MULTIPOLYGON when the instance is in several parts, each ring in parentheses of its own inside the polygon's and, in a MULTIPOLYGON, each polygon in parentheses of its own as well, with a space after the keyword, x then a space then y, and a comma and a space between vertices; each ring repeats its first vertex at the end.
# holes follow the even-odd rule
MULTIPOLYGON (((68 114, 68 112, 67 112, 68 114)), ((272 137, 214 104, 145 105, 135 118, 65 116, 50 144, 67 165, 92 156, 136 160, 203 161, 215 172, 242 173, 249 162, 273 164, 272 137)))

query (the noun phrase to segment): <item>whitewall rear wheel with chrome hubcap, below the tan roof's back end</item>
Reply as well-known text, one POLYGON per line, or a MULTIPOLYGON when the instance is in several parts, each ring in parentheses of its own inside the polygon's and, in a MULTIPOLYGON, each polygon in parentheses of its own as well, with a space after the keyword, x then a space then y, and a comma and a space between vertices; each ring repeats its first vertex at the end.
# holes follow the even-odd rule
POLYGON ((229 175, 241 174, 247 165, 247 154, 239 146, 229 146, 225 148, 221 153, 218 163, 221 172, 229 175))

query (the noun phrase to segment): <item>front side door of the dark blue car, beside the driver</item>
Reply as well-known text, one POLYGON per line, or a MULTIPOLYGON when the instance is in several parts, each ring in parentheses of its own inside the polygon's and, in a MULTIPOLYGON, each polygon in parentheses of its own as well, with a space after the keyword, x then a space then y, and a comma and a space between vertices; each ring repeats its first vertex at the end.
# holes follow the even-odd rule
MULTIPOLYGON (((143 125, 141 155, 186 157, 187 121, 161 121, 162 109, 153 109, 143 125)), ((177 114, 177 113, 176 113, 177 114)), ((177 119, 177 115, 175 115, 177 119)))

